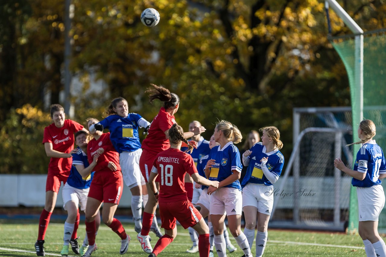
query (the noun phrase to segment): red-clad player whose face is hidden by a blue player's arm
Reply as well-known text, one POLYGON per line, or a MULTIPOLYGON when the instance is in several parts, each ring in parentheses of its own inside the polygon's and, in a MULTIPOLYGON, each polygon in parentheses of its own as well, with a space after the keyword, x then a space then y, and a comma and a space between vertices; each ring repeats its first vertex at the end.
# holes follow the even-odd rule
MULTIPOLYGON (((88 118, 87 128, 99 121, 88 118)), ((85 257, 89 257, 95 248, 95 217, 103 202, 102 220, 122 239, 120 254, 125 254, 129 249, 130 237, 119 220, 114 218, 123 189, 123 179, 119 166, 119 154, 110 140, 110 133, 94 131, 93 139, 88 142, 87 156, 91 163, 97 155, 97 165, 94 168, 95 174, 90 185, 90 191, 86 204, 86 233, 88 237, 88 249, 85 257)))

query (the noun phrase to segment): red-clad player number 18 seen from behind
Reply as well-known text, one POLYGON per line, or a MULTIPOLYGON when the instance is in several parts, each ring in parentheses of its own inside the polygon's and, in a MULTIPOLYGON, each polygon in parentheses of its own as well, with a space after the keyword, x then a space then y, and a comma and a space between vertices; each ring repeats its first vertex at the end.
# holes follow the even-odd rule
MULTIPOLYGON (((176 220, 186 229, 194 228, 199 234, 198 251, 200 257, 209 256, 209 228, 200 212, 188 200, 184 177, 188 173, 193 180, 204 186, 218 187, 218 181, 210 181, 198 175, 191 155, 181 151, 181 143, 188 141, 181 126, 173 124, 169 129, 170 148, 159 153, 154 160, 149 185, 155 198, 159 201, 161 227, 165 235, 161 237, 149 257, 157 256, 177 235, 176 220), (159 175, 159 191, 156 178, 159 175)), ((190 150, 193 146, 189 145, 190 150)))

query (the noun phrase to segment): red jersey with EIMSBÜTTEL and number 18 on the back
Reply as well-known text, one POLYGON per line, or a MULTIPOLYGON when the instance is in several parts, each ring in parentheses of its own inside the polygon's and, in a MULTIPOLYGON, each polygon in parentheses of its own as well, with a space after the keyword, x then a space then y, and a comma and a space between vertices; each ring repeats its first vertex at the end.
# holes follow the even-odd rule
POLYGON ((197 172, 191 155, 175 148, 169 148, 156 156, 151 172, 160 176, 158 201, 176 202, 187 200, 184 186, 185 173, 192 175, 197 172))

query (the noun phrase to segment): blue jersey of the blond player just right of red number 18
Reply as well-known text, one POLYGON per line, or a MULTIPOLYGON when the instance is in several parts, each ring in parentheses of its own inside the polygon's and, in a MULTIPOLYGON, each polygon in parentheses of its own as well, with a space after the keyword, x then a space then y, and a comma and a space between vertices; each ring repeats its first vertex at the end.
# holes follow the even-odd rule
MULTIPOLYGON (((225 178, 232 175, 232 170, 241 172, 242 165, 240 160, 239 149, 233 144, 228 142, 220 149, 221 146, 215 146, 210 150, 208 160, 215 160, 215 164, 210 168, 209 180, 223 181, 225 178)), ((224 187, 233 187, 241 191, 240 181, 236 180, 224 187)))

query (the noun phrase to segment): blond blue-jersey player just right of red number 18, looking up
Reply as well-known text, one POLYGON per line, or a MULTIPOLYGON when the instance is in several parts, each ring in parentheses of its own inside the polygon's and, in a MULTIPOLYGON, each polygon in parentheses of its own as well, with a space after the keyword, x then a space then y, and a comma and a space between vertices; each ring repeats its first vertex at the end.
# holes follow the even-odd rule
POLYGON ((239 149, 233 143, 240 143, 242 136, 239 129, 228 121, 219 121, 214 132, 219 146, 210 150, 205 176, 219 182, 218 188, 209 186, 210 220, 212 220, 214 244, 219 257, 226 256, 226 245, 223 235, 226 211, 228 225, 239 247, 246 257, 252 256, 247 238, 241 231, 242 197, 239 182, 242 169, 239 149))

